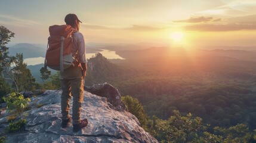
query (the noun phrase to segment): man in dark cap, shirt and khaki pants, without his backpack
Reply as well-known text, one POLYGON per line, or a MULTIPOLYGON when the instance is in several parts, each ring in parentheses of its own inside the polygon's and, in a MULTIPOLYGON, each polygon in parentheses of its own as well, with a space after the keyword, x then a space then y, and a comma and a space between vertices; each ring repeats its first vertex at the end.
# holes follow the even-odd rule
POLYGON ((86 76, 87 60, 85 58, 85 41, 82 33, 79 32, 80 23, 82 23, 75 14, 67 14, 65 17, 66 24, 72 26, 73 45, 72 55, 75 64, 63 72, 60 72, 61 82, 61 127, 65 128, 71 117, 69 116, 69 101, 73 96, 72 120, 73 132, 78 132, 87 126, 87 119, 81 120, 81 104, 84 101, 84 77, 86 76))

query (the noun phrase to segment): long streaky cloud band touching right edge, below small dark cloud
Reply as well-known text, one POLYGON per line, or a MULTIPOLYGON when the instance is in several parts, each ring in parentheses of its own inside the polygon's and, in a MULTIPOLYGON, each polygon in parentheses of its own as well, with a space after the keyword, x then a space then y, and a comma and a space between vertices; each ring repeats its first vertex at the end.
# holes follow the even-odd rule
POLYGON ((256 21, 252 23, 227 23, 227 24, 195 24, 185 26, 184 30, 189 31, 236 31, 236 30, 256 30, 256 21))

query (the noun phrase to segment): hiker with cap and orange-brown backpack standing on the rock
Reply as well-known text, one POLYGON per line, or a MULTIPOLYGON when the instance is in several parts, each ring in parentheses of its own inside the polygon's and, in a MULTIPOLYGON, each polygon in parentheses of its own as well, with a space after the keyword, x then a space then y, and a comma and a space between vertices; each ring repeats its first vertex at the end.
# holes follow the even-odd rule
POLYGON ((84 78, 87 70, 85 58, 85 41, 79 32, 82 23, 75 14, 67 14, 66 24, 49 27, 45 69, 50 67, 60 71, 61 83, 61 126, 65 128, 69 116, 69 101, 73 96, 72 119, 73 131, 78 132, 87 126, 87 119, 81 120, 81 104, 84 101, 84 78))

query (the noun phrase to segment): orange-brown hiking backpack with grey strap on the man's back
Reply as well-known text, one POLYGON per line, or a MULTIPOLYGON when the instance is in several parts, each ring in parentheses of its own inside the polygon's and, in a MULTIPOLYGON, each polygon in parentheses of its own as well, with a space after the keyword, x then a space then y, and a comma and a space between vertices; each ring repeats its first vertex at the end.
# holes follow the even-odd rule
POLYGON ((45 69, 64 71, 73 64, 72 35, 76 31, 70 25, 54 25, 49 27, 45 69))

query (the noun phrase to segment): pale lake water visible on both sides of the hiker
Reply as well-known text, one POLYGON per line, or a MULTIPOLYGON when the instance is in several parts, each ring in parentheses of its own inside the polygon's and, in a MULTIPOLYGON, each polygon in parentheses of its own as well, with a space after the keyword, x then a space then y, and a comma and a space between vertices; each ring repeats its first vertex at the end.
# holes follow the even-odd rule
MULTIPOLYGON (((100 51, 100 53, 108 59, 122 59, 122 60, 124 60, 124 58, 117 55, 115 51, 110 51, 110 50, 107 50, 107 49, 101 49, 101 50, 102 51, 100 51)), ((96 53, 89 53, 89 54, 86 54, 86 57, 91 58, 95 54, 96 53)), ((31 65, 36 65, 36 64, 43 64, 44 60, 45 60, 44 57, 25 58, 24 63, 27 63, 27 66, 31 66, 31 65)))

